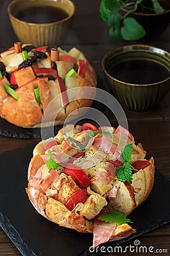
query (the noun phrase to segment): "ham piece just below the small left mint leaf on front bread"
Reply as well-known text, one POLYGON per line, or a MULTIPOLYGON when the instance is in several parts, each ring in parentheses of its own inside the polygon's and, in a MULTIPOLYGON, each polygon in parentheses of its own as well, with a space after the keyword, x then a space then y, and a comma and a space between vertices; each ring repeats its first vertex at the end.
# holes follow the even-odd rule
POLYGON ((41 189, 46 192, 53 184, 58 180, 59 174, 57 171, 50 169, 48 175, 45 177, 44 180, 41 180, 40 187, 41 189))

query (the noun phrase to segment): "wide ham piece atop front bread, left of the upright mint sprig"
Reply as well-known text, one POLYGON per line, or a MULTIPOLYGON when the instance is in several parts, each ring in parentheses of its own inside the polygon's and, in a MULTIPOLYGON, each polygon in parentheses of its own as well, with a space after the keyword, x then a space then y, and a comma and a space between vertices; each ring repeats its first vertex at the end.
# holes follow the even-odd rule
POLYGON ((109 139, 103 135, 103 137, 95 138, 94 146, 103 150, 106 154, 114 154, 117 148, 117 144, 109 141, 109 139))

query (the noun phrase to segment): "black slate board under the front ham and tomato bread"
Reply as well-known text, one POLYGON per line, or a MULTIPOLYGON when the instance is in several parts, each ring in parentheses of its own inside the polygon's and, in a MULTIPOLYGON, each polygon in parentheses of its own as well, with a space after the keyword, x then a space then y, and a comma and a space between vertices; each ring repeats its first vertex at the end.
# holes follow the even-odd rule
MULTIPOLYGON (((27 168, 36 143, 37 141, 0 154, 1 227, 23 255, 95 256, 99 254, 88 251, 92 245, 92 234, 78 233, 53 224, 37 213, 29 202, 25 193, 27 168)), ((131 226, 137 229, 137 233, 125 240, 105 243, 104 246, 122 245, 134 237, 168 223, 169 194, 169 181, 156 170, 155 184, 150 196, 130 214, 130 219, 133 221, 131 226)))

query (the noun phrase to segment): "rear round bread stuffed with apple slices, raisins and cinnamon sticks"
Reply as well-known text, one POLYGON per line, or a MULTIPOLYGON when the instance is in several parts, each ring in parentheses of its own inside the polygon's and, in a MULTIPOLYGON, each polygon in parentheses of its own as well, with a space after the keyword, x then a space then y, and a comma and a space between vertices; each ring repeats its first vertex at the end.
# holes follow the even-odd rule
MULTIPOLYGON (((96 87, 96 74, 76 48, 66 52, 59 47, 36 48, 23 44, 21 52, 16 53, 11 47, 1 53, 0 71, 0 116, 14 125, 40 127, 42 114, 58 95, 61 97, 56 104, 61 110, 52 118, 56 120, 54 125, 62 124, 74 110, 92 104, 88 98, 77 100, 80 88, 96 87), (54 60, 52 50, 56 52, 54 60), (67 93, 72 88, 79 88, 76 93, 74 90, 74 96, 67 93)), ((44 126, 50 126, 50 121, 49 117, 44 126)))

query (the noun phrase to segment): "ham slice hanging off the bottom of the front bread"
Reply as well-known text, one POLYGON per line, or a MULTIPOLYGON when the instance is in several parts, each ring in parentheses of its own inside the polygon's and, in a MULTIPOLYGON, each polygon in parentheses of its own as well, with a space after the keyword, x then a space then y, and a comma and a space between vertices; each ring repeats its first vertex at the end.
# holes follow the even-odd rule
POLYGON ((105 221, 95 221, 94 224, 94 241, 93 248, 99 246, 101 243, 108 242, 112 236, 112 233, 116 229, 116 223, 105 222, 105 221))

